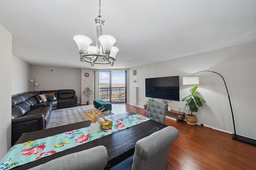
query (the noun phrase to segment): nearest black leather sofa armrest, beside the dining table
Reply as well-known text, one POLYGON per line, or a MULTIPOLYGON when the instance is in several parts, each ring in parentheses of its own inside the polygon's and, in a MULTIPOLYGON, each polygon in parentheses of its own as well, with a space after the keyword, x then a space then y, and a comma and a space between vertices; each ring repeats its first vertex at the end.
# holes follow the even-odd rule
POLYGON ((16 119, 12 119, 12 125, 26 123, 28 121, 38 121, 38 130, 44 129, 44 114, 35 114, 35 115, 28 115, 18 117, 16 119))

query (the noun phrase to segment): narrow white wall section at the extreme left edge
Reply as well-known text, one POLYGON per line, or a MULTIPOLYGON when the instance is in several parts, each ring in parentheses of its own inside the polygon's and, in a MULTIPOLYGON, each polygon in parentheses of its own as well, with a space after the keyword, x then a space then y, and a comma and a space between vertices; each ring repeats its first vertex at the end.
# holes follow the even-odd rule
POLYGON ((11 147, 12 34, 0 25, 0 160, 11 147))

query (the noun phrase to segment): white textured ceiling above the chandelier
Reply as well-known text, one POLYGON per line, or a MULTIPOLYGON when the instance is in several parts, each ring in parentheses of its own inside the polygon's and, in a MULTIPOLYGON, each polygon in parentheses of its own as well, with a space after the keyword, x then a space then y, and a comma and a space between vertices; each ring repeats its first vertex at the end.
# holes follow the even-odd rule
POLYGON ((256 40, 255 0, 102 0, 116 63, 80 62, 74 35, 96 42, 97 0, 0 0, 12 54, 34 65, 132 68, 256 40))

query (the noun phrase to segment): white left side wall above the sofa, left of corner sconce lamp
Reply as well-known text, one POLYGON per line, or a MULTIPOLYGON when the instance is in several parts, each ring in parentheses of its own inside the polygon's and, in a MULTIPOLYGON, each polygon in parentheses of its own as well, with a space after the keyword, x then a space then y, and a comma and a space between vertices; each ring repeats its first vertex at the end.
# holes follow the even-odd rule
POLYGON ((30 64, 12 55, 12 95, 28 92, 30 78, 30 64))

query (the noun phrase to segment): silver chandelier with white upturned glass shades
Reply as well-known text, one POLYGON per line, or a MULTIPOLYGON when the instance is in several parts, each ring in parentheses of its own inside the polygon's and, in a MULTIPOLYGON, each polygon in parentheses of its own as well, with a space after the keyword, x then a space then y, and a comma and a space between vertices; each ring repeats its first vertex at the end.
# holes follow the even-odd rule
POLYGON ((91 66, 94 66, 94 64, 110 64, 110 66, 113 66, 116 61, 116 53, 119 49, 113 47, 116 42, 114 37, 110 35, 102 35, 104 19, 100 16, 100 7, 101 3, 99 2, 99 15, 94 19, 96 23, 96 47, 89 46, 92 43, 92 40, 83 35, 74 36, 74 40, 78 46, 80 61, 91 63, 91 66), (104 61, 97 61, 98 57, 101 57, 104 61))

